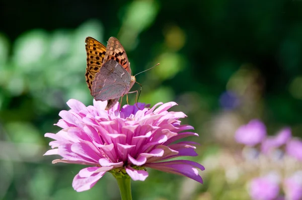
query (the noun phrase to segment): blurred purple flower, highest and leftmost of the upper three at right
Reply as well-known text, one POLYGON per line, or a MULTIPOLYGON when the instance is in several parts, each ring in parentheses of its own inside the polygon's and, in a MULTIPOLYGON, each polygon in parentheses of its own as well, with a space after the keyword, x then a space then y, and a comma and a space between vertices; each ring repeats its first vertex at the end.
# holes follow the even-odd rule
POLYGON ((235 140, 248 146, 259 144, 266 137, 266 127, 260 120, 252 120, 237 129, 235 140))

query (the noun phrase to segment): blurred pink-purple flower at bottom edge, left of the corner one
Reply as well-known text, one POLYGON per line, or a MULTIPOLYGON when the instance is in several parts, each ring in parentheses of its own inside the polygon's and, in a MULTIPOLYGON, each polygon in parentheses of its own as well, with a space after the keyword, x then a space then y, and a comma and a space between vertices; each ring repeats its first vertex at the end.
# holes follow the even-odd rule
POLYGON ((278 181, 271 176, 254 178, 250 182, 250 196, 254 200, 273 200, 278 195, 278 181))

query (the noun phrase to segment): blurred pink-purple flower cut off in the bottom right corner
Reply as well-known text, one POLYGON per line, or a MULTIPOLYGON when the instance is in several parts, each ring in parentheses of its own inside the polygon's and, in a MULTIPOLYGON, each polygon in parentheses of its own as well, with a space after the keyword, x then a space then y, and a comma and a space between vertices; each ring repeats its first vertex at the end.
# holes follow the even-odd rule
POLYGON ((284 180, 284 191, 286 199, 302 199, 302 171, 297 171, 294 175, 284 180))

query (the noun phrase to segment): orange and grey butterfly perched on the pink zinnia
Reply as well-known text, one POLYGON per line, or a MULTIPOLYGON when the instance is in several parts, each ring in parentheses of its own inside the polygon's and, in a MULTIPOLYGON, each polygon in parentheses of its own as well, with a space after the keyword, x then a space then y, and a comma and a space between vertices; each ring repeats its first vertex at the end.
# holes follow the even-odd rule
POLYGON ((105 110, 109 110, 135 83, 127 54, 115 37, 109 38, 107 47, 92 37, 85 43, 88 88, 96 101, 108 101, 105 110))

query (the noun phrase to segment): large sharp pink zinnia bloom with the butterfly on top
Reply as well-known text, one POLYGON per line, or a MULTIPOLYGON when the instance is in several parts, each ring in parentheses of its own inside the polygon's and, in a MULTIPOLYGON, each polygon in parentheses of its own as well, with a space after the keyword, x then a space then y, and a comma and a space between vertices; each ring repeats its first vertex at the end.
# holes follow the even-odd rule
POLYGON ((187 176, 202 183, 197 170, 204 170, 201 164, 189 160, 166 161, 197 155, 194 150, 197 143, 176 142, 198 136, 189 131, 192 126, 180 125, 179 119, 186 117, 184 113, 167 111, 176 103, 159 103, 152 109, 138 103, 139 109, 126 105, 120 111, 118 104, 105 111, 106 102, 100 101, 86 107, 70 99, 67 105, 71 110, 61 111, 62 119, 56 124, 62 130, 45 134, 55 141, 49 143, 53 149, 44 155, 63 157, 52 163, 92 165, 75 175, 72 182, 75 190, 90 189, 107 171, 128 174, 133 180, 145 180, 148 176, 145 167, 187 176))

